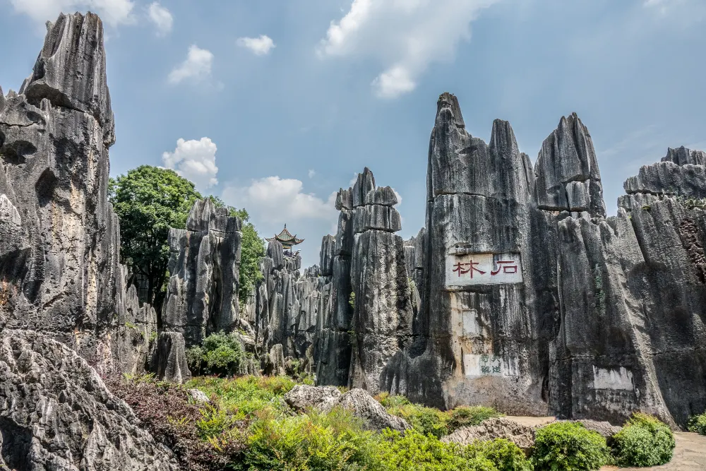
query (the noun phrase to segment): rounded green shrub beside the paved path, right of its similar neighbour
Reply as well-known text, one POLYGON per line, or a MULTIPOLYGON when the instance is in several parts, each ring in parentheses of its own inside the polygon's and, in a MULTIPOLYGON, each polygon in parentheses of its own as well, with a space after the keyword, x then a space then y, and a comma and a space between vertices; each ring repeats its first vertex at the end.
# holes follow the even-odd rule
POLYGON ((657 417, 636 412, 613 436, 616 463, 628 466, 657 466, 671 460, 674 435, 657 417))

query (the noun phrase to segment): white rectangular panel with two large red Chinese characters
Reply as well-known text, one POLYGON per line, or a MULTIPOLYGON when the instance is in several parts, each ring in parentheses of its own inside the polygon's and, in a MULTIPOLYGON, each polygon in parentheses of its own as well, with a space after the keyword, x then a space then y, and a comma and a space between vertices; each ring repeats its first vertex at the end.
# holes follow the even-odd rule
POLYGON ((508 285, 521 282, 520 254, 446 256, 446 286, 508 285))

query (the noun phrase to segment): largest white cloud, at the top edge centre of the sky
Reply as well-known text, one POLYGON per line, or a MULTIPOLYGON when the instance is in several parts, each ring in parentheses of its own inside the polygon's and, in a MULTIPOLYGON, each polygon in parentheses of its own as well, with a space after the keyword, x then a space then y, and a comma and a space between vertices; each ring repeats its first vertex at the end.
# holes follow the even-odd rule
POLYGON ((318 47, 321 57, 362 56, 384 70, 373 80, 379 97, 409 93, 433 61, 453 59, 469 40, 470 23, 499 0, 353 0, 332 21, 318 47))

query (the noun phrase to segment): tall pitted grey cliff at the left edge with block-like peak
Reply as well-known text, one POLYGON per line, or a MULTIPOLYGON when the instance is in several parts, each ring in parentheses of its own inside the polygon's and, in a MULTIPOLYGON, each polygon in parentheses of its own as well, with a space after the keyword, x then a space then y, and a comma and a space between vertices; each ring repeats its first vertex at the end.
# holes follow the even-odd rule
POLYGON ((59 16, 20 93, 0 101, 0 328, 42 330, 104 369, 141 371, 156 316, 119 264, 102 34, 91 13, 59 16))

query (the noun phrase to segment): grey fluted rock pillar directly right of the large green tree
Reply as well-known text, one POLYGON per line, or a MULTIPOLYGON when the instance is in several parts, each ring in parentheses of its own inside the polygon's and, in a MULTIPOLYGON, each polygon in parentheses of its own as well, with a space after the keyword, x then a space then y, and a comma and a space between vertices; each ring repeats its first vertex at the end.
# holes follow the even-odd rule
POLYGON ((169 278, 163 328, 200 345, 211 333, 231 332, 239 321, 241 220, 209 198, 196 201, 186 229, 169 229, 169 278))

